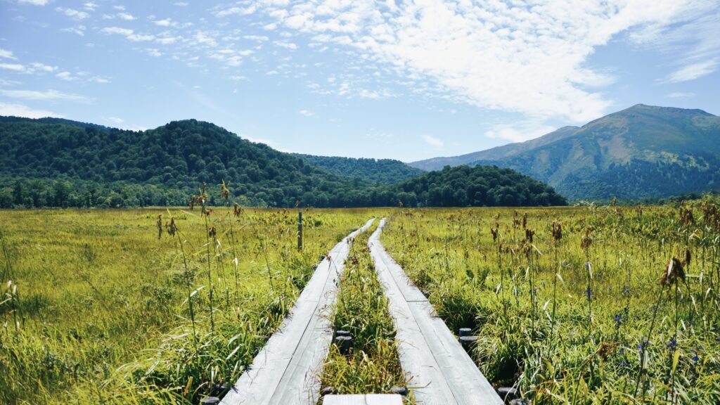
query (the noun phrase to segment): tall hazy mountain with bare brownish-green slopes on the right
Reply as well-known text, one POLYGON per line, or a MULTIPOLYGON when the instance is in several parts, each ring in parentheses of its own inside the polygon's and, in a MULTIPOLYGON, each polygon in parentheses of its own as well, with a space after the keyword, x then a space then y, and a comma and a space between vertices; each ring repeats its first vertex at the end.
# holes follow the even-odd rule
POLYGON ((720 117, 702 110, 637 104, 581 128, 565 127, 532 141, 449 159, 410 165, 433 169, 452 161, 495 164, 547 182, 571 199, 639 199, 716 190, 720 117))

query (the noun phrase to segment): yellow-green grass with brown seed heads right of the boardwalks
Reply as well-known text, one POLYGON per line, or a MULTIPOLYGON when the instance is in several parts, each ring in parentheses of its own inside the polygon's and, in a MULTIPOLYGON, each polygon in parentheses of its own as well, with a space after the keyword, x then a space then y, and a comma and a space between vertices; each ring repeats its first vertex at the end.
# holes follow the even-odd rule
POLYGON ((398 210, 383 244, 495 386, 534 404, 720 403, 720 210, 398 210))

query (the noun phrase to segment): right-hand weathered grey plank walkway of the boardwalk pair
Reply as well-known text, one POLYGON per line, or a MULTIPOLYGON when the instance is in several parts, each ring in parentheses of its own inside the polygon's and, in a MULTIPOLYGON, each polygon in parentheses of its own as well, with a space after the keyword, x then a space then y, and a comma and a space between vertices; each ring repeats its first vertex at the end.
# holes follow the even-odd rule
POLYGON ((425 295, 385 251, 380 243, 384 224, 383 218, 368 246, 395 319, 402 370, 413 376, 410 386, 416 403, 503 404, 425 295))

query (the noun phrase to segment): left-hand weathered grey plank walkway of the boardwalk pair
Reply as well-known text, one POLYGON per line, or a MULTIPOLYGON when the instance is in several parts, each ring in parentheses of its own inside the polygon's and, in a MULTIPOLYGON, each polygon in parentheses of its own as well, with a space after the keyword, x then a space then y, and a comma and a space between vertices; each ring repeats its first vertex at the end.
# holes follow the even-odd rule
POLYGON ((240 375, 221 404, 315 405, 323 360, 333 339, 328 315, 336 299, 350 240, 373 221, 348 235, 330 250, 329 259, 320 262, 279 331, 268 339, 251 368, 240 375))

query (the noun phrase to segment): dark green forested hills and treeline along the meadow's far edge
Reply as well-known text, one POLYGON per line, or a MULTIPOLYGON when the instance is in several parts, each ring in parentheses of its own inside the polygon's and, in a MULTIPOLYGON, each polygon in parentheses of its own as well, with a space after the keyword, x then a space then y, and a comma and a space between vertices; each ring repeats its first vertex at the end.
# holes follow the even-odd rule
POLYGON ((328 172, 217 125, 175 121, 131 131, 0 117, 0 208, 210 204, 229 184, 241 205, 314 207, 561 205, 551 187, 493 166, 446 168, 396 184, 328 172))

